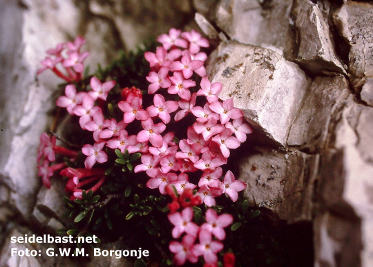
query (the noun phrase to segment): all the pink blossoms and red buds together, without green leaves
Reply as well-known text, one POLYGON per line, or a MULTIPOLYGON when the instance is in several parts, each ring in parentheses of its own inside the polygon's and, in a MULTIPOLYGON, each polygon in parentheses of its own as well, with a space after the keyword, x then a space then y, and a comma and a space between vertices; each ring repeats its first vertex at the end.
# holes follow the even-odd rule
MULTIPOLYGON (((157 47, 155 53, 144 54, 151 67, 146 77, 150 82, 147 97, 153 95, 151 104, 144 104, 140 89, 125 88, 121 93, 122 100, 117 103, 117 108, 122 111, 119 120, 106 114, 103 108, 115 81, 100 81, 93 76, 90 91, 79 93, 74 84, 66 86, 65 95, 58 98, 57 106, 66 108, 70 115, 79 116, 80 127, 92 132, 95 143, 82 147, 86 156, 85 169, 63 165, 60 169, 66 168, 61 175, 69 179, 66 191, 72 192, 72 199, 81 199, 87 185, 92 185, 89 190, 95 192, 105 183, 104 169, 93 166, 108 161, 107 149, 117 149, 122 154, 141 154, 141 163, 133 169, 135 174, 146 173, 149 176, 146 186, 159 190, 160 194, 169 194, 172 199, 168 216, 175 226, 172 236, 182 238, 181 242, 169 244, 175 254, 175 264, 182 265, 187 260, 194 263, 203 256, 207 264, 214 266, 218 261, 216 253, 223 248, 223 228, 232 223, 233 217, 218 215, 210 208, 205 214, 206 222, 199 226, 193 222, 192 207, 201 203, 212 207, 216 205, 216 198, 224 194, 231 201, 237 201, 238 192, 246 185, 236 180, 230 171, 223 177, 222 165, 227 163, 231 149, 245 142, 251 128, 243 122, 242 111, 233 107, 232 98, 219 100, 222 84, 211 83, 206 75, 204 61, 207 54, 200 49, 209 46, 207 39, 195 30, 182 33, 171 29, 157 41, 162 46, 157 47), (187 120, 183 119, 187 116, 193 118, 193 122, 184 128, 187 138, 180 140, 179 133, 172 131, 169 125, 185 125, 187 120), (199 177, 198 180, 195 177, 199 177), (199 243, 195 243, 197 237, 199 243)), ((78 37, 74 43, 60 44, 54 50, 48 50, 48 54, 55 55, 56 59, 47 57, 41 71, 51 68, 61 77, 63 74, 55 64, 63 62, 68 72, 68 76, 63 75, 64 79, 68 82, 79 79, 84 69, 82 61, 88 56, 79 53, 82 44, 84 39, 78 37), (68 47, 68 59, 61 57, 64 47, 68 47)), ((48 136, 44 134, 39 154, 50 160, 51 151, 56 151, 55 139, 48 138, 50 145, 46 138, 48 136)), ((48 164, 39 169, 39 175, 43 176, 44 185, 50 187, 48 178, 55 168, 48 164)))

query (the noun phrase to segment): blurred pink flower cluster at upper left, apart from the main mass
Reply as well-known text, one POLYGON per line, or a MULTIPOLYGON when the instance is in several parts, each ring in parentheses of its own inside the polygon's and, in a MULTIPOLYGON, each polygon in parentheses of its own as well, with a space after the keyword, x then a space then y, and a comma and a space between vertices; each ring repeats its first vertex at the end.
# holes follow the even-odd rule
POLYGON ((82 79, 82 73, 84 72, 83 62, 89 55, 88 52, 80 52, 80 48, 85 42, 86 40, 83 37, 77 37, 74 42, 57 44, 55 48, 48 49, 48 56, 41 61, 43 67, 37 71, 37 74, 39 75, 49 68, 66 82, 82 79), (59 65, 62 66, 64 72, 59 69, 61 67, 57 68, 59 65))

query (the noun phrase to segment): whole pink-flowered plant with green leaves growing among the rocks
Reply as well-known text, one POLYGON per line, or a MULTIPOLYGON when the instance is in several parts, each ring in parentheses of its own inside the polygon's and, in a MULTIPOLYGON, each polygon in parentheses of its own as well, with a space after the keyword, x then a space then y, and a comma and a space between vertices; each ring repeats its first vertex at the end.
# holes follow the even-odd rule
POLYGON ((162 46, 143 54, 141 68, 124 68, 122 55, 90 76, 82 37, 47 51, 38 73, 49 68, 66 80, 56 104, 79 129, 68 141, 41 135, 38 175, 48 188, 57 171, 66 177, 70 199, 64 201, 74 219, 68 234, 105 238, 105 225, 112 230, 136 218, 132 227, 140 224, 157 239, 166 264, 234 266, 233 245, 224 243, 227 227, 233 232, 259 212, 238 201, 246 184, 226 166, 251 128, 232 98, 219 100, 223 84, 207 77, 201 52, 207 39, 171 29, 157 41, 162 46))

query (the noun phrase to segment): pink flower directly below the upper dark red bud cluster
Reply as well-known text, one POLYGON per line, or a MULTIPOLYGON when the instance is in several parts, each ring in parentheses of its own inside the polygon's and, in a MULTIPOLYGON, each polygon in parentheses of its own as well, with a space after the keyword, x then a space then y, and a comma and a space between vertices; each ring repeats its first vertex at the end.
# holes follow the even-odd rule
POLYGON ((133 120, 146 120, 149 114, 142 108, 142 98, 132 98, 131 103, 120 101, 118 107, 124 112, 123 120, 125 123, 133 122, 133 120))

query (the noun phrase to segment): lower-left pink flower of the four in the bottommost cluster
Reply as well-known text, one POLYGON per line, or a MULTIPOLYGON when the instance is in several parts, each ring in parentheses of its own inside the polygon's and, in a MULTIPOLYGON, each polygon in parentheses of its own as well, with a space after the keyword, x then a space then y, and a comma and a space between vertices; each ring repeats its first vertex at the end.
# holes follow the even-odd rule
POLYGON ((187 259, 193 264, 198 261, 198 257, 196 257, 193 252, 194 241, 195 237, 187 234, 182 238, 182 243, 177 241, 170 242, 169 248, 171 252, 175 253, 175 257, 173 257, 175 265, 181 266, 187 259))

